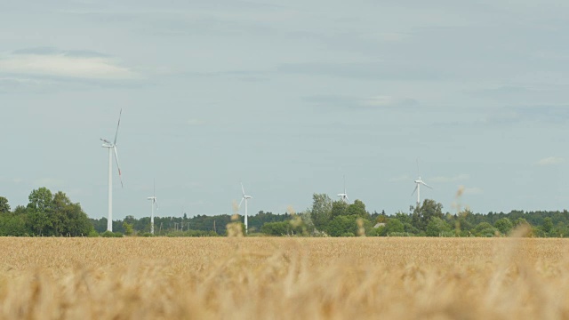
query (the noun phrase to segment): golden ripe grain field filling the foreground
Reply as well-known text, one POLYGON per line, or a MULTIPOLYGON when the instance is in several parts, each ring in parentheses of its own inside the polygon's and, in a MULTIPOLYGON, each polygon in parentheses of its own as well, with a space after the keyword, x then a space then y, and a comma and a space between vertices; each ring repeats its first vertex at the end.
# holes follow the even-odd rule
POLYGON ((569 242, 0 238, 3 319, 569 318, 569 242))

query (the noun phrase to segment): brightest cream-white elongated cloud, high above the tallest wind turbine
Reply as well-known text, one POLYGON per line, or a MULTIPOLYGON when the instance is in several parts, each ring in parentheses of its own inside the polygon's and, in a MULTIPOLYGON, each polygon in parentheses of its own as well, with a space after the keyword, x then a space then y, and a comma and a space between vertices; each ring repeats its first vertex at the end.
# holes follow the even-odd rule
POLYGON ((108 55, 88 51, 59 51, 51 47, 23 49, 0 55, 0 75, 48 76, 88 80, 139 77, 108 55))

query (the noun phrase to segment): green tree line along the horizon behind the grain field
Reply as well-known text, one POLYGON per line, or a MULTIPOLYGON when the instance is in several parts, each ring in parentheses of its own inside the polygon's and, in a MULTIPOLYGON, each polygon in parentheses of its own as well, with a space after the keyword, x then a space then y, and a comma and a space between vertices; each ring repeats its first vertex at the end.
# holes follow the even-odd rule
MULTIPOLYGON (((220 214, 182 217, 155 217, 154 236, 226 236, 227 226, 241 223, 240 215, 220 214)), ((248 219, 249 236, 509 236, 525 226, 527 236, 569 236, 569 212, 511 211, 474 213, 463 210, 443 212, 432 199, 410 207, 409 212, 368 212, 364 202, 333 201, 314 194, 312 205, 302 212, 282 214, 260 211, 248 219)), ((26 206, 11 210, 0 196, 0 236, 152 236, 150 218, 126 216, 113 221, 114 233, 107 230, 107 218, 90 219, 78 203, 58 191, 33 190, 26 206)))

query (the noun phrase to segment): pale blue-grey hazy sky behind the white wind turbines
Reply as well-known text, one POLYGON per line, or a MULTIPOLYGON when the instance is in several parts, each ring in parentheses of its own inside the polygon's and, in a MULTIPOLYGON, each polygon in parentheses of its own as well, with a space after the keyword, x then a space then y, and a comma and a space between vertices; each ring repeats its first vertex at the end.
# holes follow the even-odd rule
POLYGON ((0 196, 92 218, 569 204, 569 2, 0 2, 0 196), (419 165, 417 165, 419 164, 419 165), (457 197, 457 190, 464 192, 457 197), (244 209, 241 209, 244 213, 244 209))

